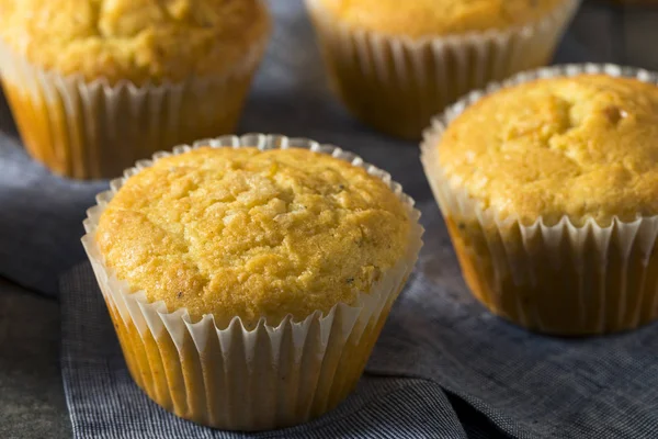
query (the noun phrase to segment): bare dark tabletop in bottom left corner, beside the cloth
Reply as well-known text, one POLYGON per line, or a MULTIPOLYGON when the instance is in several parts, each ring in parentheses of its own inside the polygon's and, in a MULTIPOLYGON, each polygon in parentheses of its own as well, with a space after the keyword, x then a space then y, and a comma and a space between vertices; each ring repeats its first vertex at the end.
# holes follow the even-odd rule
POLYGON ((68 438, 59 305, 0 279, 0 438, 68 438))

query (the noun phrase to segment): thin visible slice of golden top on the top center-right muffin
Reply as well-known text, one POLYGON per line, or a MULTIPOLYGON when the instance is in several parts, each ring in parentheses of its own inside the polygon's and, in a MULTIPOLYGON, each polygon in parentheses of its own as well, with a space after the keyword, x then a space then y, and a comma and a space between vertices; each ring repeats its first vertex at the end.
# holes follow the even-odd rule
POLYGON ((570 0, 319 0, 350 26, 412 38, 501 30, 536 21, 570 0))

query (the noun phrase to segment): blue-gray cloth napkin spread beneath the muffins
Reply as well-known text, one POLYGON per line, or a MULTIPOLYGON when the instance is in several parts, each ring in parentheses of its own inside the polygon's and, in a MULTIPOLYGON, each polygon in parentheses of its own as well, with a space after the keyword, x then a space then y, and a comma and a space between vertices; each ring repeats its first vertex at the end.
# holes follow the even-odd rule
MULTIPOLYGON (((131 381, 79 243, 84 210, 106 182, 50 176, 0 134, 0 275, 63 309, 61 367, 75 437, 118 438, 655 438, 658 325, 587 340, 529 334, 468 294, 411 143, 377 134, 329 94, 299 0, 272 1, 276 32, 240 132, 311 137, 390 171, 419 201, 426 247, 356 392, 287 430, 240 435, 175 418, 131 381)), ((559 61, 612 60, 597 45, 605 10, 586 5, 559 61), (600 31, 592 37, 590 30, 600 31), (585 36, 583 36, 585 35, 585 36)), ((616 37, 615 37, 616 38, 616 37)), ((0 115, 1 115, 0 105, 0 115)), ((1 117, 1 116, 0 116, 1 117)))

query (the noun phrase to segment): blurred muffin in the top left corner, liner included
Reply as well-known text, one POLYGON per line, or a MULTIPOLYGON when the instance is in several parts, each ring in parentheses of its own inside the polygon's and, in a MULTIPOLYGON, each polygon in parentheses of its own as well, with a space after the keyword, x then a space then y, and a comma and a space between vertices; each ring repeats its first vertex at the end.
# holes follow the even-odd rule
POLYGON ((269 33, 261 0, 0 0, 0 72, 32 157, 114 177, 232 132, 269 33))

